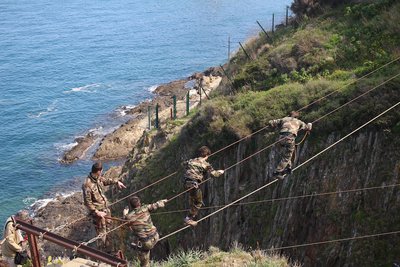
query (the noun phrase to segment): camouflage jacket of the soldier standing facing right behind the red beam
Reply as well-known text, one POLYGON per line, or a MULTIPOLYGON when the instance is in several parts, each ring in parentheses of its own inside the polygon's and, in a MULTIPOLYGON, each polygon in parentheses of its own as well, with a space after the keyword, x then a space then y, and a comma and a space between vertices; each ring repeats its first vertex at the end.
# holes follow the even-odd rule
POLYGON ((118 183, 118 181, 114 181, 110 178, 107 179, 103 176, 97 178, 94 177, 92 173, 89 173, 82 185, 82 190, 85 206, 89 209, 91 214, 95 214, 97 210, 104 210, 107 208, 104 186, 116 183, 118 183))

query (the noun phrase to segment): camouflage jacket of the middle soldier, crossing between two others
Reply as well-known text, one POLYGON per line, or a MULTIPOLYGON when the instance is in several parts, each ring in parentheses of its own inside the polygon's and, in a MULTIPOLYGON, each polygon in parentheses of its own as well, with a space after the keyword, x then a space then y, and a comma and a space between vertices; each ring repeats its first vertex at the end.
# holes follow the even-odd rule
POLYGON ((196 182, 201 182, 205 179, 208 174, 214 177, 218 177, 221 174, 213 169, 210 163, 206 161, 206 158, 195 158, 187 160, 183 163, 185 168, 185 179, 194 180, 196 182))

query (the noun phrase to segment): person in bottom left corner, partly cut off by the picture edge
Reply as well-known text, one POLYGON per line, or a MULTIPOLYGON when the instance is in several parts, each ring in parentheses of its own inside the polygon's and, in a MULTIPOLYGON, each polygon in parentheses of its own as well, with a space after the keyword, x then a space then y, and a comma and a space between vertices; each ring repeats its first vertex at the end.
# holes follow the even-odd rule
POLYGON ((16 266, 14 263, 15 254, 26 250, 26 241, 24 241, 21 231, 15 226, 15 218, 27 221, 29 213, 26 210, 19 211, 15 216, 9 217, 4 226, 4 241, 2 241, 1 251, 3 260, 11 267, 16 266))

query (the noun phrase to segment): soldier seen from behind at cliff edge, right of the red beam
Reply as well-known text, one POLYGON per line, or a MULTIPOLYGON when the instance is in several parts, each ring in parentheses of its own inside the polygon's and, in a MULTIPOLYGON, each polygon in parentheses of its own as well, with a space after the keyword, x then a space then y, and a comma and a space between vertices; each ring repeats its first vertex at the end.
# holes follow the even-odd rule
POLYGON ((150 266, 150 250, 157 244, 159 235, 157 228, 151 221, 150 212, 164 208, 166 199, 159 200, 156 203, 141 205, 140 198, 133 196, 129 199, 129 205, 133 209, 129 213, 129 209, 124 209, 125 219, 131 221, 128 226, 136 237, 135 242, 131 246, 137 249, 140 266, 150 266))

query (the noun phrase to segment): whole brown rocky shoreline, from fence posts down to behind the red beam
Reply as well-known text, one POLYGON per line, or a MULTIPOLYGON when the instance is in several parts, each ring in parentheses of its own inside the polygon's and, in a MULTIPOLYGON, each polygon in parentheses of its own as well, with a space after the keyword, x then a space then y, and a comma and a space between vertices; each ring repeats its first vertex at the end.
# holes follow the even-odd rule
MULTIPOLYGON (((93 160, 107 161, 125 159, 128 154, 131 153, 135 145, 138 145, 143 138, 146 139, 146 132, 148 132, 148 106, 153 108, 157 104, 160 106, 159 117, 161 132, 164 131, 163 129, 170 119, 173 95, 177 96, 178 118, 183 117, 186 112, 185 97, 188 91, 190 96, 190 108, 194 108, 200 102, 197 89, 195 88, 196 81, 198 80, 201 81, 201 85, 208 95, 219 86, 222 78, 216 68, 210 68, 203 73, 195 73, 190 77, 158 86, 154 92, 156 96, 153 100, 142 102, 133 109, 127 111, 127 113, 132 115, 132 119, 121 125, 114 132, 103 137, 92 156, 93 160)), ((206 95, 202 94, 202 98, 206 98, 206 95)), ((77 145, 65 153, 62 162, 68 164, 81 159, 94 144, 97 144, 99 138, 100 137, 95 134, 88 133, 85 137, 77 139, 77 145)), ((161 143, 165 143, 166 141, 167 139, 163 139, 161 143)), ((159 146, 161 145, 162 144, 159 144, 159 146)), ((154 146, 152 150, 157 150, 159 146, 154 146)), ((93 150, 90 149, 90 151, 93 150)), ((139 154, 151 153, 149 150, 146 151, 141 151, 139 154)), ((126 166, 117 166, 107 170, 104 175, 106 177, 119 179, 123 176, 122 173, 127 171, 129 170, 126 170, 126 166)), ((116 192, 116 189, 111 186, 107 194, 113 199, 113 195, 115 195, 116 192)), ((35 207, 33 207, 33 209, 35 209, 35 207)), ((44 207, 36 208, 36 210, 34 210, 33 223, 49 231, 55 230, 55 233, 77 242, 86 242, 96 234, 92 222, 89 219, 84 218, 76 221, 78 218, 85 217, 85 215, 87 215, 87 210, 83 203, 82 193, 76 192, 66 197, 57 197, 44 207), (76 222, 71 223, 74 221, 76 222)), ((118 215, 115 216, 119 217, 118 215)), ((54 246, 54 244, 47 241, 39 241, 43 259, 47 256, 74 256, 72 251, 54 246)))

